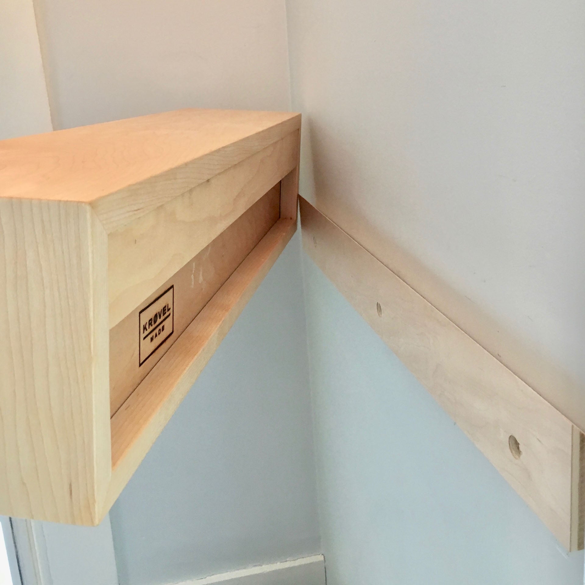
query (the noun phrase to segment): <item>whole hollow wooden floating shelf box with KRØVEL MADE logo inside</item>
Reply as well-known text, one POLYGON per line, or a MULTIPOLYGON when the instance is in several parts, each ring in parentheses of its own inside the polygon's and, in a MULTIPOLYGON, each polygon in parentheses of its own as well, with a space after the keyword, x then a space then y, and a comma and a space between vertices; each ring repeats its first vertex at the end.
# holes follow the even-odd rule
POLYGON ((0 514, 98 524, 296 229, 301 117, 0 142, 0 514))

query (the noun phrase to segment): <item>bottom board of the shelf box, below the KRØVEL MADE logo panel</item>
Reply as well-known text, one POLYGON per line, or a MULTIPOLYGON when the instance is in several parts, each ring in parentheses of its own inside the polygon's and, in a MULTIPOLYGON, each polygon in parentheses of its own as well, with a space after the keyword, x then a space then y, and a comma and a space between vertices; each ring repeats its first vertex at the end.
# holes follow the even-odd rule
POLYGON ((295 229, 295 221, 278 220, 112 417, 112 481, 105 511, 135 472, 295 229))

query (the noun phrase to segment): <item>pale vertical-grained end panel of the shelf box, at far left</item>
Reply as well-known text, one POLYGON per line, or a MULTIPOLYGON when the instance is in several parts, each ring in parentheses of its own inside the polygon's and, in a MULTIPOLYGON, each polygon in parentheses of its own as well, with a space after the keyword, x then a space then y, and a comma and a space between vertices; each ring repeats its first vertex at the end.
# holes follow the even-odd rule
POLYGON ((0 242, 0 514, 95 524, 111 475, 106 233, 88 205, 0 199, 0 242))

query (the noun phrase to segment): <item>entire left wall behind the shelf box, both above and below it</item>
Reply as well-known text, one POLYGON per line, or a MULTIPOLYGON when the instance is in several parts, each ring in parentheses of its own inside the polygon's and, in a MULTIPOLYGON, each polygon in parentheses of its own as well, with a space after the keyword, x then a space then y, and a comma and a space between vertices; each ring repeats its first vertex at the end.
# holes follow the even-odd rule
MULTIPOLYGON (((182 107, 289 108, 284 2, 37 8, 59 128, 182 107)), ((123 585, 320 551, 299 253, 295 239, 112 508, 123 585)))

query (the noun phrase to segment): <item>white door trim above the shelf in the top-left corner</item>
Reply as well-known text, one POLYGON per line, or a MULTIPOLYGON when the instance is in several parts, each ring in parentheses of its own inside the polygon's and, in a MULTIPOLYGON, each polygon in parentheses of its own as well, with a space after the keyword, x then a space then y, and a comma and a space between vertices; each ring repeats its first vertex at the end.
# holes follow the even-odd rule
POLYGON ((2 0, 0 140, 52 129, 32 0, 2 0))

